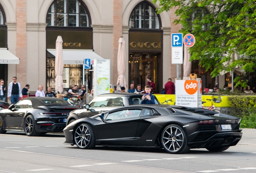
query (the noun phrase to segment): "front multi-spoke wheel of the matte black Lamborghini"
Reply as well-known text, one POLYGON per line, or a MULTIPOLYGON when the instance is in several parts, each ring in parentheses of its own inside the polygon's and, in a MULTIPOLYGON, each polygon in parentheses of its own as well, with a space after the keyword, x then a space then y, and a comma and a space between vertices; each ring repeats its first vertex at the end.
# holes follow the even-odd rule
POLYGON ((81 124, 74 130, 74 141, 80 149, 91 149, 95 147, 95 136, 90 125, 81 124))

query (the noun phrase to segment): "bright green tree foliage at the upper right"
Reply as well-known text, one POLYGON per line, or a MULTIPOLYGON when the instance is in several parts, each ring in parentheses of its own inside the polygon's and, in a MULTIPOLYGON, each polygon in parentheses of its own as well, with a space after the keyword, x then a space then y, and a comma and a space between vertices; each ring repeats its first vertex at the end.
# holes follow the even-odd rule
MULTIPOLYGON (((192 33, 196 44, 191 59, 213 70, 211 75, 240 66, 247 72, 256 68, 256 0, 153 0, 158 13, 177 8, 183 34, 192 33)), ((246 75, 246 73, 244 74, 246 75)), ((242 84, 239 77, 235 82, 242 84)), ((244 81, 245 82, 245 81, 244 81)))

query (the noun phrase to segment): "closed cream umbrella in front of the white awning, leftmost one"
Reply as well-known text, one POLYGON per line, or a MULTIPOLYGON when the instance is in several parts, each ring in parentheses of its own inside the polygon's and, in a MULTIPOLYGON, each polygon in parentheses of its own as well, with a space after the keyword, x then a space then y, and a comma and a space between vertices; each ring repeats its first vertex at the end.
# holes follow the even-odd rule
POLYGON ((62 37, 59 35, 56 40, 56 56, 55 56, 55 92, 63 92, 63 53, 62 53, 62 37))

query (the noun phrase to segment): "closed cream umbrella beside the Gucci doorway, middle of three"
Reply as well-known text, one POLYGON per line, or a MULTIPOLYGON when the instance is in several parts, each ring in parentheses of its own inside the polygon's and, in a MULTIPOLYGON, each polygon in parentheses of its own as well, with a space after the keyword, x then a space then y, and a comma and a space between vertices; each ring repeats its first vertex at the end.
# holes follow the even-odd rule
POLYGON ((125 62, 126 62, 126 57, 125 57, 125 41, 124 38, 121 36, 118 41, 118 80, 116 82, 117 84, 117 90, 121 91, 120 87, 125 87, 125 91, 127 92, 127 85, 125 81, 125 62))

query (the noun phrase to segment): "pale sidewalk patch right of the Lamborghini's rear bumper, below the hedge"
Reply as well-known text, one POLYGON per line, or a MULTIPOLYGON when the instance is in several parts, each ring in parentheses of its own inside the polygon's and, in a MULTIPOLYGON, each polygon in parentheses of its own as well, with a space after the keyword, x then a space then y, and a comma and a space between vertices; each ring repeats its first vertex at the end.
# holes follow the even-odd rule
POLYGON ((242 139, 237 145, 253 145, 256 146, 256 129, 243 129, 242 139))

